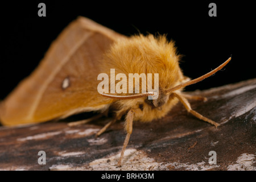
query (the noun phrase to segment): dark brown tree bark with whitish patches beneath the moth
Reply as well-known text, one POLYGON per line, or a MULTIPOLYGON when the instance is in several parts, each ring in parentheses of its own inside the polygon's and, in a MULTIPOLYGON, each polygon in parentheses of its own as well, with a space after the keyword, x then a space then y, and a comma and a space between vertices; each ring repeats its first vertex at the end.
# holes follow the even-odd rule
POLYGON ((206 102, 189 102, 193 110, 220 123, 217 129, 178 104, 158 121, 134 122, 119 168, 118 156, 126 136, 123 121, 98 138, 95 134, 110 118, 73 127, 67 125, 68 119, 1 126, 0 169, 256 170, 256 78, 188 94, 208 98, 206 102), (46 164, 38 163, 42 159, 39 151, 46 152, 46 164), (209 159, 216 164, 209 164, 209 159))

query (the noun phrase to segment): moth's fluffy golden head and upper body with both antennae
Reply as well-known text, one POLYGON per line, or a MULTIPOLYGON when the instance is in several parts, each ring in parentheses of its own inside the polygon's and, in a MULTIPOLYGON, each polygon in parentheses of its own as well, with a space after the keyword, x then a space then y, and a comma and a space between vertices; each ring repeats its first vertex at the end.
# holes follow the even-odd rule
MULTIPOLYGON (((185 86, 195 84, 196 82, 213 75, 223 68, 230 61, 231 57, 225 61, 225 63, 220 65, 220 67, 191 81, 187 81, 186 77, 184 77, 179 67, 179 59, 180 56, 176 53, 174 42, 168 42, 166 36, 155 38, 153 35, 139 35, 121 39, 113 44, 110 51, 105 54, 104 65, 102 65, 104 72, 108 73, 108 76, 111 78, 111 69, 109 72, 109 68, 115 68, 115 74, 124 73, 126 78, 129 77, 130 73, 138 75, 145 74, 147 75, 145 76, 147 77, 147 80, 148 74, 152 74, 154 78, 151 77, 151 85, 155 85, 154 80, 156 74, 158 77, 158 89, 153 92, 150 92, 150 90, 148 91, 148 89, 144 91, 139 90, 139 93, 133 92, 133 94, 128 96, 122 96, 121 94, 101 95, 115 99, 144 97, 144 101, 147 104, 160 109, 167 103, 172 92, 181 90, 185 86), (158 94, 158 97, 150 100, 148 96, 155 95, 155 92, 158 94)), ((128 81, 126 84, 127 83, 128 81)), ((152 88, 151 85, 148 85, 147 82, 146 88, 152 88)))

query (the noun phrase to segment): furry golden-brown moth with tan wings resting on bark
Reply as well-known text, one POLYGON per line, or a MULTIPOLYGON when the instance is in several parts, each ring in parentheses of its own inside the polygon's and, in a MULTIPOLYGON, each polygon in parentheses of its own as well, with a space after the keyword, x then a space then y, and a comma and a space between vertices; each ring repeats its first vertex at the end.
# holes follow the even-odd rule
MULTIPOLYGON (((179 101, 188 113, 217 127, 217 122, 191 109, 188 102, 188 99, 206 98, 189 96, 182 91, 185 86, 213 75, 230 60, 231 57, 211 72, 190 80, 179 67, 180 55, 174 42, 169 42, 166 36, 126 37, 93 20, 79 17, 51 44, 38 68, 1 102, 0 121, 3 125, 14 126, 88 111, 96 111, 96 118, 114 113, 112 121, 97 133, 98 136, 125 116, 127 134, 118 161, 121 166, 133 121, 151 122, 162 118, 179 101), (115 69, 115 75, 123 73, 127 77, 129 73, 158 73, 158 92, 98 93, 100 81, 97 76, 106 73, 110 77, 111 69, 115 69), (148 98, 156 94, 157 99, 148 98)), ((116 86, 118 80, 114 84, 116 86)))

